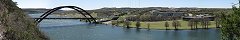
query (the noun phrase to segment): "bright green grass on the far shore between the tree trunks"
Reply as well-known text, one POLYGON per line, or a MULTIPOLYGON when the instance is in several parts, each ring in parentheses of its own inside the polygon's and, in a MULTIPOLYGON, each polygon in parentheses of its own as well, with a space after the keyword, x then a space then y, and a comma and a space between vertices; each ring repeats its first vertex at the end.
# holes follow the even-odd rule
MULTIPOLYGON (((188 26, 188 21, 183 21, 183 20, 176 20, 179 21, 179 26, 177 27, 178 29, 182 30, 182 29, 191 29, 190 26, 188 26), (180 27, 181 26, 181 27, 180 27)), ((135 21, 130 21, 129 22, 130 25, 129 27, 136 27, 136 22, 135 21)), ((140 22, 141 26, 140 28, 148 28, 148 24, 150 24, 150 29, 161 29, 161 30, 165 30, 167 29, 175 29, 175 27, 172 25, 173 21, 156 21, 156 22, 140 22), (168 27, 166 27, 166 23, 168 27)), ((209 28, 216 28, 215 26, 215 22, 214 21, 210 21, 209 22, 209 28)), ((123 26, 123 23, 120 23, 119 26, 123 26)), ((201 26, 200 24, 198 26, 201 26)), ((126 27, 126 26, 123 26, 126 27)), ((198 27, 198 28, 203 28, 203 27, 198 27)))

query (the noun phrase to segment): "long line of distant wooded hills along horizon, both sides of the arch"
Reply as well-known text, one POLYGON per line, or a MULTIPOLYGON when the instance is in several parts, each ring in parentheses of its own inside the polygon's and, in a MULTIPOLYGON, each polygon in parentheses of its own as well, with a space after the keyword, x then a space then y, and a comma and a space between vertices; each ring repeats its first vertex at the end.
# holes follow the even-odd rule
MULTIPOLYGON (((26 13, 44 13, 50 9, 46 8, 22 8, 26 13)), ((139 14, 146 10, 157 9, 157 12, 177 12, 177 13, 213 13, 218 11, 229 11, 231 8, 196 8, 196 7, 183 7, 183 8, 169 8, 169 7, 146 7, 146 8, 101 8, 95 10, 86 10, 88 13, 95 13, 98 17, 110 17, 121 13, 139 14)), ((54 14, 76 14, 77 11, 74 10, 58 10, 54 14)), ((146 11, 145 13, 151 13, 146 11)))

